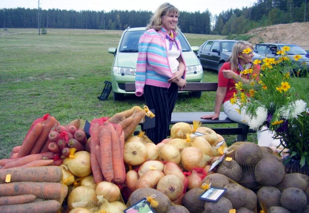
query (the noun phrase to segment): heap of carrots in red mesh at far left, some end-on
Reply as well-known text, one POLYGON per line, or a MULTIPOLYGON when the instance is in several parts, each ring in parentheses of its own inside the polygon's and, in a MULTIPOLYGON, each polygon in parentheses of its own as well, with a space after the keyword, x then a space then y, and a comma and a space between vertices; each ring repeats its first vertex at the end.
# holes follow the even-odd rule
MULTIPOLYGON (((68 125, 60 125, 49 114, 36 119, 21 146, 12 149, 10 159, 1 159, 0 168, 39 167, 62 163, 60 156, 66 157, 66 147, 85 150, 87 137, 83 130, 82 120, 76 119, 68 125)), ((90 149, 88 150, 90 151, 90 149)))

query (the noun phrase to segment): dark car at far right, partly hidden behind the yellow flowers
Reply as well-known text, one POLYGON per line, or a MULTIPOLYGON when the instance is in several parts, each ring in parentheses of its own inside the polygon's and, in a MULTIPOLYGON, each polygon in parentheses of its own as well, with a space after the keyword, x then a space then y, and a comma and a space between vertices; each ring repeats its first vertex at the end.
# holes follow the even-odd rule
POLYGON ((309 58, 305 56, 307 52, 296 44, 261 43, 256 44, 254 50, 258 51, 259 54, 267 58, 274 58, 275 60, 278 60, 280 55, 277 54, 277 51, 282 50, 284 46, 290 47, 290 50, 286 53, 288 54, 290 60, 298 65, 294 71, 297 72, 298 69, 301 69, 304 73, 307 73, 307 71, 309 71, 309 58), (293 59, 293 56, 295 55, 301 55, 302 58, 295 61, 293 59))

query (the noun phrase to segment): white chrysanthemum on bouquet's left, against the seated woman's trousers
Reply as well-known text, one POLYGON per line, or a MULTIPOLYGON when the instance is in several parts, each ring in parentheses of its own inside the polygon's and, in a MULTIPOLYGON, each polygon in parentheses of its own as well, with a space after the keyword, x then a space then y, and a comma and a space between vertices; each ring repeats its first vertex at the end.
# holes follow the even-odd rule
POLYGON ((267 119, 267 109, 265 107, 258 107, 256 109, 256 117, 252 117, 247 113, 243 113, 241 115, 242 119, 248 123, 250 128, 257 129, 259 128, 267 119))

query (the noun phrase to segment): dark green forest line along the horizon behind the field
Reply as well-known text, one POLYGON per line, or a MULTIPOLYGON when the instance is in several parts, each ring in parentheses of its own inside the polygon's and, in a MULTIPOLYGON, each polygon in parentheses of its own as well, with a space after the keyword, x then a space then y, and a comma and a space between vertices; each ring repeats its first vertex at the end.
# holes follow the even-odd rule
MULTIPOLYGON (((77 28, 124 30, 143 27, 151 11, 74 11, 30 8, 0 9, 0 28, 77 28)), ((211 11, 181 11, 179 26, 183 33, 243 34, 252 28, 273 24, 306 22, 309 20, 309 0, 257 0, 251 7, 229 9, 219 15, 211 11)))

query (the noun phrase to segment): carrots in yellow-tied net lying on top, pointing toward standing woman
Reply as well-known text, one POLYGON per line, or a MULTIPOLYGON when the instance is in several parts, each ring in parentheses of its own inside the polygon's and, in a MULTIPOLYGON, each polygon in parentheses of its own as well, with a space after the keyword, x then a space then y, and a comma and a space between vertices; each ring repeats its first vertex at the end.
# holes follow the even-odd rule
POLYGON ((110 117, 107 122, 121 125, 125 131, 126 140, 133 135, 138 124, 144 122, 145 116, 153 118, 155 115, 148 109, 147 106, 144 106, 144 109, 135 106, 129 110, 116 113, 110 117))

